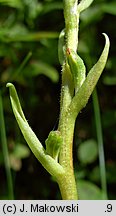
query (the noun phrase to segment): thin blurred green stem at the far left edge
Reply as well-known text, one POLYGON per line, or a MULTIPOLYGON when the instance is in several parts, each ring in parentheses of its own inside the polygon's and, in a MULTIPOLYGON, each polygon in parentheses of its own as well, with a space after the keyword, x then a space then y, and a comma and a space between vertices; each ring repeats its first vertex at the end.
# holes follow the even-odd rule
POLYGON ((4 156, 4 164, 5 164, 5 169, 6 169, 8 198, 13 200, 14 199, 13 182, 12 182, 12 175, 11 175, 9 155, 8 155, 1 91, 0 91, 0 134, 1 134, 1 143, 2 143, 2 150, 3 150, 3 156, 4 156))

